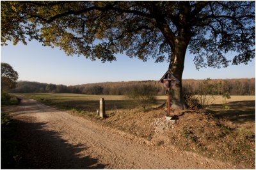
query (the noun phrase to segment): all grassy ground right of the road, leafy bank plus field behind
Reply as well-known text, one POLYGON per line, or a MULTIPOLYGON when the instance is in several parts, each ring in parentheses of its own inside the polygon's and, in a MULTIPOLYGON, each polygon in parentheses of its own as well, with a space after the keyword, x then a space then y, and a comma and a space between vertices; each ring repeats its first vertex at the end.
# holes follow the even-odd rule
POLYGON ((202 111, 180 111, 175 128, 156 133, 156 121, 163 118, 164 109, 156 108, 166 101, 157 96, 156 102, 145 111, 133 100, 124 96, 23 93, 15 94, 34 98, 70 114, 96 121, 104 126, 142 137, 156 146, 171 144, 180 150, 200 153, 223 162, 234 162, 249 169, 255 168, 255 96, 231 96, 228 109, 223 98, 216 97, 214 105, 205 114, 202 111), (99 99, 106 100, 108 118, 96 116, 99 99), (156 108, 156 109, 154 109, 156 108))

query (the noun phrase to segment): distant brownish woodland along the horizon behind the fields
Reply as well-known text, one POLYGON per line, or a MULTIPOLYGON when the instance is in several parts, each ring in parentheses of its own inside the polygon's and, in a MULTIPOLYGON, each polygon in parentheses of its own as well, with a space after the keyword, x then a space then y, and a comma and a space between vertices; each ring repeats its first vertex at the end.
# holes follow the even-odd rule
MULTIPOLYGON (((197 94, 205 86, 212 86, 214 95, 255 95, 255 78, 253 79, 186 79, 182 81, 185 93, 197 94)), ((47 84, 40 82, 19 81, 12 93, 80 93, 88 95, 127 95, 135 89, 143 88, 153 91, 154 95, 164 95, 166 89, 157 81, 100 82, 76 86, 47 84)), ((211 92, 212 94, 212 92, 211 92)))

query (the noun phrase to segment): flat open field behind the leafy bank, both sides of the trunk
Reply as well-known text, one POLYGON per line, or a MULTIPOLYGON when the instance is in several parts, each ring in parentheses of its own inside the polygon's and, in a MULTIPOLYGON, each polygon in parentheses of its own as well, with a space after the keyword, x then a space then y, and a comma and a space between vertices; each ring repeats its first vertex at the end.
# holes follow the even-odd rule
MULTIPOLYGON (((130 100, 122 95, 83 95, 70 93, 21 93, 44 104, 58 107, 60 109, 77 109, 95 113, 99 109, 99 99, 105 98, 106 112, 115 112, 116 109, 139 109, 138 102, 130 100)), ((156 96, 156 102, 147 105, 147 109, 156 108, 166 101, 167 96, 156 96)), ((212 98, 212 97, 211 97, 212 98)), ((255 96, 231 96, 227 99, 227 108, 223 107, 223 98, 215 96, 211 99, 212 105, 208 112, 217 117, 225 118, 234 123, 255 122, 255 96)))

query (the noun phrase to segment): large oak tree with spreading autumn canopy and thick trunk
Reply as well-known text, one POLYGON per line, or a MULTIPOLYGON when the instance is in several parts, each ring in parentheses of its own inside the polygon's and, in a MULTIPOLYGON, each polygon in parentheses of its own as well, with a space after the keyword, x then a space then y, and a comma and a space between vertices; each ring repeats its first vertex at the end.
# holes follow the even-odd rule
POLYGON ((170 62, 168 69, 180 81, 172 108, 184 109, 187 49, 196 68, 247 64, 255 56, 255 2, 1 1, 2 45, 31 39, 102 62, 116 60, 120 52, 170 62))

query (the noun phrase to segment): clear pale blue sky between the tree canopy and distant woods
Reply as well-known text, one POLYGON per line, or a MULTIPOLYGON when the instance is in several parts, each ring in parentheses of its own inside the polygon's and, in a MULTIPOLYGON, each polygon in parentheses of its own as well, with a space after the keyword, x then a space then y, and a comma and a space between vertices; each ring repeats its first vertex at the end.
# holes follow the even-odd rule
MULTIPOLYGON (((20 81, 77 85, 106 81, 159 80, 168 69, 168 63, 143 62, 119 54, 112 63, 91 61, 83 56, 67 56, 58 47, 43 47, 36 41, 28 45, 18 43, 1 47, 1 62, 9 63, 19 73, 20 81)), ((248 65, 230 65, 227 68, 196 70, 193 56, 187 52, 183 79, 254 78, 255 59, 248 65)))

